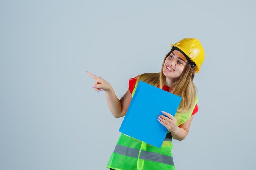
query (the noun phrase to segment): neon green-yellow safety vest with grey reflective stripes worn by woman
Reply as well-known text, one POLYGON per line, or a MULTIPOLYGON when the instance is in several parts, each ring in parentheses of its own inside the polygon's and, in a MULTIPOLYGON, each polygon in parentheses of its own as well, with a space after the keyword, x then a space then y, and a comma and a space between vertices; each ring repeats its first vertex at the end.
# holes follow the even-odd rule
MULTIPOLYGON (((132 97, 136 88, 137 84, 135 84, 135 88, 132 91, 132 97)), ((197 101, 198 98, 195 104, 197 101)), ((177 112, 175 114, 177 125, 183 124, 192 113, 193 109, 188 113, 177 112)), ((172 148, 171 132, 167 133, 161 148, 121 133, 106 167, 116 170, 175 170, 171 153, 172 148)))

